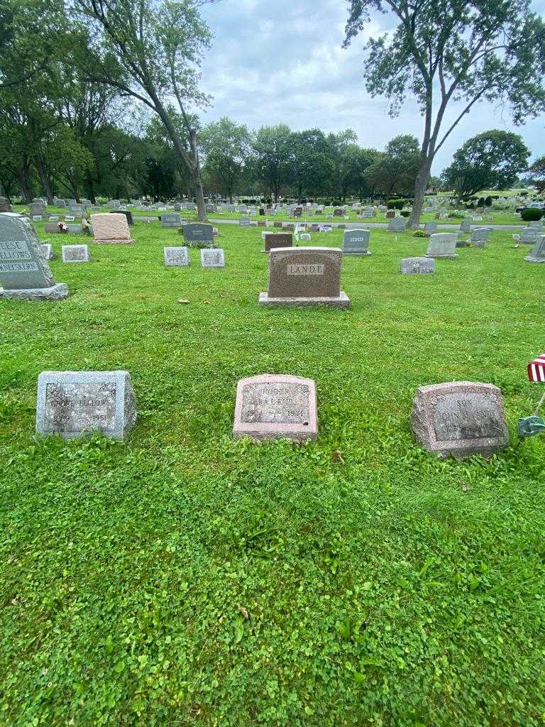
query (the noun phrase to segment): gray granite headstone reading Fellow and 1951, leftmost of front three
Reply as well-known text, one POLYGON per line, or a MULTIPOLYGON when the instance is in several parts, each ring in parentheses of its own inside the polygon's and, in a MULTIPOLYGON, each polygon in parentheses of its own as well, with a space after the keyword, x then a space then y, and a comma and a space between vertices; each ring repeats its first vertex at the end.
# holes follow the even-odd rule
POLYGON ((100 431, 124 440, 137 419, 128 371, 42 371, 36 433, 72 439, 100 431))

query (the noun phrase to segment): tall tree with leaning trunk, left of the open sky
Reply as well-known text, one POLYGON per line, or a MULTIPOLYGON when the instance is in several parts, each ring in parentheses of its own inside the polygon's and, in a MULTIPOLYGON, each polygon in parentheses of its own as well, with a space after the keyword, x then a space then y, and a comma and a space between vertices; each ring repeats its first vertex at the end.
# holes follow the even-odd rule
POLYGON ((187 108, 209 100, 198 88, 198 67, 211 41, 199 7, 214 0, 71 1, 97 30, 89 80, 118 89, 158 115, 190 174, 198 215, 206 218, 198 129, 187 108), (170 97, 177 101, 188 145, 169 113, 170 97))

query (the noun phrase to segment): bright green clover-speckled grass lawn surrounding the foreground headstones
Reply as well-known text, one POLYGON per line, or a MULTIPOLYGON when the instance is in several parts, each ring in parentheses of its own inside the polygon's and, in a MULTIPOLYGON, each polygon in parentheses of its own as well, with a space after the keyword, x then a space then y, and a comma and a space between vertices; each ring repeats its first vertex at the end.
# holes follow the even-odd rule
POLYGON ((374 230, 350 310, 266 310, 260 230, 220 228, 224 270, 165 268, 182 237, 132 231, 52 262, 68 300, 0 301, 0 725, 543 725, 530 247, 495 231, 400 276, 427 241, 374 230), (35 439, 44 369, 128 370, 129 440, 35 439), (233 441, 236 383, 266 372, 315 379, 318 442, 233 441), (451 380, 501 387, 512 448, 416 445, 416 387, 451 380))

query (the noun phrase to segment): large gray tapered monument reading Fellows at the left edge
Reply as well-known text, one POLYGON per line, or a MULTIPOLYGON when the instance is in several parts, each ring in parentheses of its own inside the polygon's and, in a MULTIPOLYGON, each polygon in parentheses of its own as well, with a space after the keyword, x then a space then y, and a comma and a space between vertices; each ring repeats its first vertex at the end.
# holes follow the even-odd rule
POLYGON ((26 217, 0 214, 0 297, 9 300, 62 300, 68 286, 55 283, 26 217))

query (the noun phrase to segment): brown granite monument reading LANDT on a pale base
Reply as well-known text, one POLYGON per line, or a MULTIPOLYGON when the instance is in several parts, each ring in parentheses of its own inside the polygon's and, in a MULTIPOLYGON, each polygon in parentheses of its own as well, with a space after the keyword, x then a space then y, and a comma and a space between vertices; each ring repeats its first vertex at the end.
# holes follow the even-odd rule
POLYGON ((341 290, 342 250, 336 247, 276 248, 270 252, 269 285, 259 305, 348 308, 341 290))

